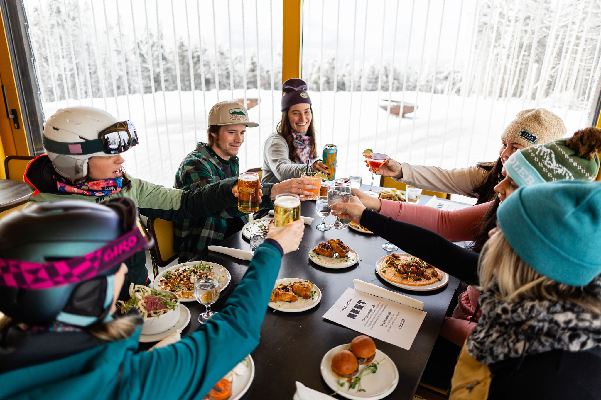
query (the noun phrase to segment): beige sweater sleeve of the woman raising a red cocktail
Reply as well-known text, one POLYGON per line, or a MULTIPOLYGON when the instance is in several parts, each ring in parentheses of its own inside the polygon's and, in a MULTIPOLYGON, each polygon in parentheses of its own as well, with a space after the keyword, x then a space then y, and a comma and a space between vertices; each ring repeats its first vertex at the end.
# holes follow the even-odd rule
POLYGON ((484 183, 488 171, 471 166, 445 170, 440 167, 412 166, 401 163, 403 178, 392 178, 394 181, 403 182, 423 190, 461 194, 463 196, 478 198, 474 188, 484 183))

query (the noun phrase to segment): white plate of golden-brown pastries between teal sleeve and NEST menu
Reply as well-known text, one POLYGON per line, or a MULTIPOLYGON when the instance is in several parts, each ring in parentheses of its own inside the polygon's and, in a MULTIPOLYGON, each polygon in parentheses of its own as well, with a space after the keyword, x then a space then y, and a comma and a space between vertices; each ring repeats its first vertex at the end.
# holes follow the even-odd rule
POLYGON ((322 300, 322 291, 316 284, 300 278, 282 278, 275 281, 268 306, 283 312, 301 312, 313 308, 322 300))

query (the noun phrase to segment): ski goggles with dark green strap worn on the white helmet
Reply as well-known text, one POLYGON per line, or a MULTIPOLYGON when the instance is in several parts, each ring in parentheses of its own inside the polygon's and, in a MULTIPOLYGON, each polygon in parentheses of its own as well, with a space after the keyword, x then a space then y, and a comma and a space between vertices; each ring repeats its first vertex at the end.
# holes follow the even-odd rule
POLYGON ((42 135, 42 143, 46 151, 57 154, 93 154, 105 152, 106 154, 119 154, 129 150, 139 143, 138 133, 132 122, 117 122, 98 134, 98 139, 85 142, 57 142, 42 135))

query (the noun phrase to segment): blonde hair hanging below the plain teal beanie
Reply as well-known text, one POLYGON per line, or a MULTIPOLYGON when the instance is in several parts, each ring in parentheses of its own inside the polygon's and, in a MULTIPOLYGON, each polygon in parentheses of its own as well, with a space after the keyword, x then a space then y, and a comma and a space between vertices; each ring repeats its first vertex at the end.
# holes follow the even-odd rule
POLYGON ((483 246, 478 278, 479 290, 495 285, 496 296, 501 300, 561 301, 601 314, 601 301, 588 285, 572 286, 538 273, 517 255, 500 229, 483 246))

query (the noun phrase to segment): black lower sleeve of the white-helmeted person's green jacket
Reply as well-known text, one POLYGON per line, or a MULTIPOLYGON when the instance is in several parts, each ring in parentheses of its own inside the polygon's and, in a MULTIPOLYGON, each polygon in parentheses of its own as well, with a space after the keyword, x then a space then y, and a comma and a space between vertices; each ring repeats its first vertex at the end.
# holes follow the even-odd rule
MULTIPOLYGON (((182 221, 183 219, 216 215, 229 207, 237 207, 238 199, 231 193, 237 182, 238 177, 232 176, 201 188, 183 191, 180 207, 177 210, 159 207, 140 207, 139 210, 142 215, 167 221, 182 221)), ((160 200, 156 200, 154 203, 160 203, 160 200)))

